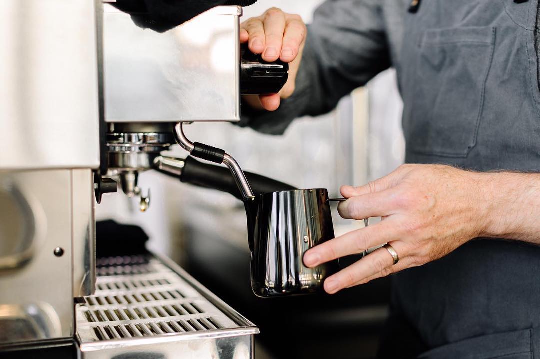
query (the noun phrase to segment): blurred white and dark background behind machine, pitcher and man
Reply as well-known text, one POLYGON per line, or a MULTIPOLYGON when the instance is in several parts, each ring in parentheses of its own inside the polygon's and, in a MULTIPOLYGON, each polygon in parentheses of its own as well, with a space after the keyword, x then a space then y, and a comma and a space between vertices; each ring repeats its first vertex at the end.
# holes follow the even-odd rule
MULTIPOLYGON (((298 13, 309 23, 321 2, 259 0, 244 8, 242 21, 278 7, 298 13)), ((295 120, 282 136, 264 135, 230 123, 196 123, 186 127, 186 134, 193 141, 224 148, 244 170, 299 188, 328 188, 330 195, 338 196, 340 185, 365 184, 403 162, 401 111, 395 72, 388 70, 343 98, 334 111, 295 120)), ((171 154, 187 155, 179 146, 174 146, 171 154)), ((151 189, 148 211, 140 212, 137 201, 126 196, 105 196, 97 206, 98 219, 140 225, 151 238, 151 250, 178 261, 257 324, 261 329, 257 358, 322 358, 336 353, 340 358, 374 356, 388 313, 388 278, 333 296, 257 298, 249 282, 249 248, 241 201, 154 171, 143 172, 139 184, 144 192, 151 189)), ((334 218, 336 235, 363 225, 363 221, 338 217, 334 218)), ((345 258, 340 264, 346 266, 356 259, 345 258)))

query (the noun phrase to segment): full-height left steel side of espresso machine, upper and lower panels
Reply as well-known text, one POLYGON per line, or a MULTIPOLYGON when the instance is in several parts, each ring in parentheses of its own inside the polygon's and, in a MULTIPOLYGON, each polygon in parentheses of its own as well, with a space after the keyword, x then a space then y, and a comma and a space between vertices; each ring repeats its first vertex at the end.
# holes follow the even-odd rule
POLYGON ((97 3, 0 3, 0 343, 72 337, 94 285, 97 3))

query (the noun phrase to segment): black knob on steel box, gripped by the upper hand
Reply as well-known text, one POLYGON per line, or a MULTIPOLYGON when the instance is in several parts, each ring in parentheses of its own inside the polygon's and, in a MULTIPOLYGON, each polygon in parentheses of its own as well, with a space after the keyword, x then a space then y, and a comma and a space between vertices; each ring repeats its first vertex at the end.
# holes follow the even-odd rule
POLYGON ((241 72, 240 93, 242 95, 264 95, 278 93, 289 78, 289 64, 281 60, 268 63, 261 55, 252 53, 247 44, 240 47, 241 72))

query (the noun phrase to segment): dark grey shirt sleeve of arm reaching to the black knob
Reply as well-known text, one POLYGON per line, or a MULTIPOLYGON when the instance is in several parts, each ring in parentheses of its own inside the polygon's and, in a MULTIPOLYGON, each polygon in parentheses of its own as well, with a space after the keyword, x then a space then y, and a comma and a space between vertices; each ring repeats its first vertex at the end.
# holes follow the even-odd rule
POLYGON ((242 105, 240 126, 283 134, 295 118, 332 111, 343 96, 390 66, 380 0, 328 0, 308 25, 294 94, 274 112, 242 105))

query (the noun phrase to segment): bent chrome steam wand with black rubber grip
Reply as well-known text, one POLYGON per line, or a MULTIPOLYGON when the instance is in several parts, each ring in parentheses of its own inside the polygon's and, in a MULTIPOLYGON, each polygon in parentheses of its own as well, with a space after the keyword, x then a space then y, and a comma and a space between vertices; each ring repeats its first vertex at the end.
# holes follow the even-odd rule
POLYGON ((191 142, 184 134, 184 122, 179 122, 174 126, 174 134, 176 135, 176 141, 188 151, 193 157, 202 158, 203 160, 224 163, 232 172, 234 181, 237 183, 238 188, 246 199, 254 199, 255 195, 251 189, 251 185, 247 181, 246 175, 238 162, 229 154, 225 153, 225 150, 220 148, 208 146, 204 143, 191 142))

